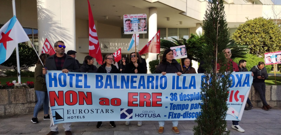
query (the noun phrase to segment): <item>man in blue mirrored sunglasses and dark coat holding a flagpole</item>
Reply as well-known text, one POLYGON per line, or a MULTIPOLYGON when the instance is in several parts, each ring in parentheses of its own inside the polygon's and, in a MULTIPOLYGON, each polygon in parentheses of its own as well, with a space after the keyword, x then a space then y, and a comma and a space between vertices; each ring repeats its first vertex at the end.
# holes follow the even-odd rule
MULTIPOLYGON (((64 53, 65 45, 63 41, 57 41, 54 44, 54 48, 56 54, 49 56, 46 59, 46 65, 45 68, 43 68, 43 75, 46 75, 47 70, 60 70, 62 73, 80 72, 76 60, 64 53)), ((52 117, 52 113, 50 114, 50 117, 52 117)), ((64 127, 65 135, 72 135, 70 122, 62 123, 62 126, 64 127)), ((51 132, 49 132, 47 135, 58 134, 58 124, 53 125, 53 119, 51 119, 50 129, 51 132)))

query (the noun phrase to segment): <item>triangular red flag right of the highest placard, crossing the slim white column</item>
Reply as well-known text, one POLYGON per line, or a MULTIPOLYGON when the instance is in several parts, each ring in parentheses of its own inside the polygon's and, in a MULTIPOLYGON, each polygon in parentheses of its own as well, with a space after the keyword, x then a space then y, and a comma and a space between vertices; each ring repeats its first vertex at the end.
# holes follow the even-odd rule
POLYGON ((145 53, 160 53, 160 30, 156 33, 156 35, 139 51, 139 54, 145 53))

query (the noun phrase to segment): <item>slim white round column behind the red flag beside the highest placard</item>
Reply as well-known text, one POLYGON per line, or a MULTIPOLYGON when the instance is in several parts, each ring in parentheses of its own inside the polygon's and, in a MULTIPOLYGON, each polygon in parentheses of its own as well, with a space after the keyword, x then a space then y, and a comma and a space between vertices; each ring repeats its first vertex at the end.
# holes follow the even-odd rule
MULTIPOLYGON (((148 19, 148 40, 151 40, 157 32, 157 8, 150 7, 149 8, 149 19, 148 19)), ((147 53, 146 54, 146 63, 147 63, 147 71, 149 71, 149 64, 151 60, 156 60, 156 53, 147 53)))

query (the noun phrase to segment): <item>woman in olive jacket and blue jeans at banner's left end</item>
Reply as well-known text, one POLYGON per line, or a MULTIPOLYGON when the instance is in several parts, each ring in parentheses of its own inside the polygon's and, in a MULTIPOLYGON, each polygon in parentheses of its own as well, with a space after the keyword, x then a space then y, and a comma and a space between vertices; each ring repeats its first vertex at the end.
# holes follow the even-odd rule
MULTIPOLYGON (((45 65, 47 57, 49 57, 49 56, 50 55, 46 54, 46 53, 42 53, 39 56, 39 58, 42 60, 44 65, 45 65)), ((43 71, 44 65, 42 65, 41 61, 38 59, 38 62, 36 63, 36 67, 35 67, 35 72, 34 72, 34 77, 35 77, 34 89, 36 92, 38 102, 36 103, 36 105, 34 107, 33 118, 31 119, 32 123, 38 123, 37 115, 38 115, 38 112, 40 111, 42 105, 43 105, 43 109, 44 109, 43 120, 50 120, 49 97, 48 97, 45 77, 42 76, 42 71, 43 71)))

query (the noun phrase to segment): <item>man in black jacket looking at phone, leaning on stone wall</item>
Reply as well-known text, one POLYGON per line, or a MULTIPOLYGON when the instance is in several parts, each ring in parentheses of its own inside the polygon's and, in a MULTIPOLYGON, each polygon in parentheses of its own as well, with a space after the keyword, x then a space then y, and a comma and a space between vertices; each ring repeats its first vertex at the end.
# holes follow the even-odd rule
POLYGON ((260 94, 260 99, 262 100, 262 109, 267 111, 272 107, 266 102, 266 86, 264 80, 268 78, 268 74, 266 71, 266 67, 264 67, 264 62, 259 62, 258 65, 251 68, 251 71, 254 73, 253 86, 260 94))

